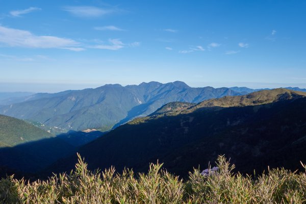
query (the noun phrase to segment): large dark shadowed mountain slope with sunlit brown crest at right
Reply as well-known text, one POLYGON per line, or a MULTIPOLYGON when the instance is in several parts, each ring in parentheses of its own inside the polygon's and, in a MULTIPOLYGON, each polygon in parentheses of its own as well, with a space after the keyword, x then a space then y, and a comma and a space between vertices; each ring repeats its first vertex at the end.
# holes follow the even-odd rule
MULTIPOLYGON (((218 155, 231 158, 243 173, 270 167, 300 168, 306 162, 306 93, 288 89, 225 96, 198 104, 170 103, 136 118, 78 149, 90 169, 115 166, 136 172, 164 163, 186 176, 218 155)), ((45 171, 68 171, 75 155, 45 171)))

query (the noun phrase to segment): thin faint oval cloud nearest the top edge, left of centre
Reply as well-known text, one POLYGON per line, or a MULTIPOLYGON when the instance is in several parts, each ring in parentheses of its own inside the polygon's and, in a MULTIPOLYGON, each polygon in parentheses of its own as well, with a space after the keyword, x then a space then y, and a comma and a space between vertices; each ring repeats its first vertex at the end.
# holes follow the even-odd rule
POLYGON ((64 11, 78 17, 101 17, 107 14, 114 13, 114 9, 104 9, 92 6, 68 6, 63 8, 64 11))

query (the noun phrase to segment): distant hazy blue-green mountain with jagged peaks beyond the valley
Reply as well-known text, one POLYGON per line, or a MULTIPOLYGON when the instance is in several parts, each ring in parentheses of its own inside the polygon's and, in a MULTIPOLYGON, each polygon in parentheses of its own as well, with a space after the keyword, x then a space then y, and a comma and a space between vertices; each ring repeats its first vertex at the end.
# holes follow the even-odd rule
POLYGON ((166 103, 198 103, 205 99, 241 95, 229 88, 191 88, 184 82, 105 85, 95 89, 38 93, 0 107, 0 114, 29 119, 68 130, 106 131, 135 117, 148 115, 166 103), (23 100, 23 101, 22 101, 23 100))

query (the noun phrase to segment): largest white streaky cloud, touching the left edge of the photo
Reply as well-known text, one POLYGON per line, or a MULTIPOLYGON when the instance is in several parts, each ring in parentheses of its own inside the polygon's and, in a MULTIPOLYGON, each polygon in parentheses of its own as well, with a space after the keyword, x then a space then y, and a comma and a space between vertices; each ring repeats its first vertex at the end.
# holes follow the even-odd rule
POLYGON ((37 36, 29 31, 11 29, 0 25, 0 45, 30 48, 61 48, 81 51, 80 43, 55 36, 37 36))

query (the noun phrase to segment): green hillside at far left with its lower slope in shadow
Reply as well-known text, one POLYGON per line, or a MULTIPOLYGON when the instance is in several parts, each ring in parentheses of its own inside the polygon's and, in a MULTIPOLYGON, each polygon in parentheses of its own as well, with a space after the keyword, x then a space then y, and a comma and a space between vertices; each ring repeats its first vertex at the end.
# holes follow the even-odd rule
POLYGON ((54 136, 23 120, 0 115, 0 176, 12 172, 30 176, 103 134, 69 131, 54 136))

